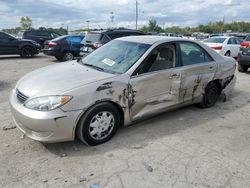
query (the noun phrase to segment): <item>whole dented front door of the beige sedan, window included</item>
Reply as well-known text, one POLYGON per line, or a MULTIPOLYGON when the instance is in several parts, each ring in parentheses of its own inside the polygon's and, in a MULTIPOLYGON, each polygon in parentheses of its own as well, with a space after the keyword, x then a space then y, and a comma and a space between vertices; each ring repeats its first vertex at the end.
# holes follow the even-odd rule
POLYGON ((131 120, 159 113, 179 103, 181 70, 176 68, 175 44, 156 47, 130 79, 131 120))

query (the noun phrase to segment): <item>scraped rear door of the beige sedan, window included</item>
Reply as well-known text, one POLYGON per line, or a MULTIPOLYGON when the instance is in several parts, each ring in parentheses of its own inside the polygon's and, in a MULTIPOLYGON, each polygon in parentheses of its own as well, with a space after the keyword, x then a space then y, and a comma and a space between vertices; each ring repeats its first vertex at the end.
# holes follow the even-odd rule
POLYGON ((181 59, 180 102, 200 99, 207 83, 213 80, 217 63, 198 44, 179 42, 181 59))

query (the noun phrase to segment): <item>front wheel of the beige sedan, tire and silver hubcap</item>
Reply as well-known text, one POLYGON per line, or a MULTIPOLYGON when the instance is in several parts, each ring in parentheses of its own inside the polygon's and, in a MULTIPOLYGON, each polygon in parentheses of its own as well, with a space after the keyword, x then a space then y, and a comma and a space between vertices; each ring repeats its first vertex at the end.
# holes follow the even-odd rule
POLYGON ((108 102, 99 103, 81 117, 76 134, 88 145, 102 144, 115 135, 120 122, 120 114, 115 106, 108 102))

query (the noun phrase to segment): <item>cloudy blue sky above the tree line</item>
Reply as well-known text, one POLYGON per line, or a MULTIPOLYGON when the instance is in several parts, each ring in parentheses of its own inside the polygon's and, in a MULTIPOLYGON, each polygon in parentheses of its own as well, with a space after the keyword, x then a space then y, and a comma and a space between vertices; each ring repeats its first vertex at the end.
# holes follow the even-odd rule
MULTIPOLYGON (((32 27, 135 28, 136 0, 0 0, 0 29, 32 27), (113 21, 111 17, 113 16, 113 21)), ((222 21, 250 22, 250 0, 138 0, 138 27, 154 19, 158 25, 190 26, 222 21)))

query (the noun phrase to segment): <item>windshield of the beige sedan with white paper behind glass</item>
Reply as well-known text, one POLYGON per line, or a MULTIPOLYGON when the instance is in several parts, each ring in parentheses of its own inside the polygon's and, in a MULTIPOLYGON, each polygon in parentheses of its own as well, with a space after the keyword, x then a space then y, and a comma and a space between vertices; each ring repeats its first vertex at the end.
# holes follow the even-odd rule
POLYGON ((113 40, 80 62, 98 70, 122 74, 147 51, 149 44, 113 40))

